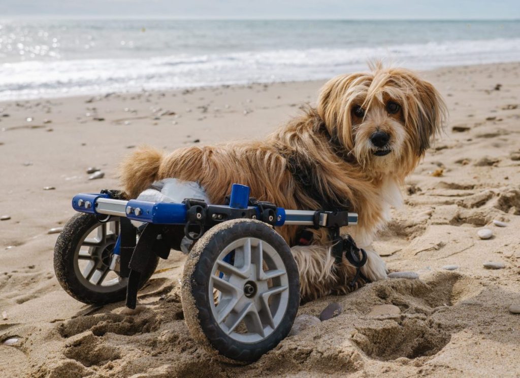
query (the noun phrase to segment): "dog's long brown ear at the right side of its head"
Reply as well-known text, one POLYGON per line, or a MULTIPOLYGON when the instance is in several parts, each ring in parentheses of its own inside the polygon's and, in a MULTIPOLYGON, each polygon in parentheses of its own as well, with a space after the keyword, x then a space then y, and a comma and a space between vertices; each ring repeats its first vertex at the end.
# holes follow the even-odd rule
POLYGON ((446 104, 435 87, 422 79, 415 82, 415 93, 410 99, 409 122, 417 130, 416 152, 422 156, 435 136, 446 124, 446 104))

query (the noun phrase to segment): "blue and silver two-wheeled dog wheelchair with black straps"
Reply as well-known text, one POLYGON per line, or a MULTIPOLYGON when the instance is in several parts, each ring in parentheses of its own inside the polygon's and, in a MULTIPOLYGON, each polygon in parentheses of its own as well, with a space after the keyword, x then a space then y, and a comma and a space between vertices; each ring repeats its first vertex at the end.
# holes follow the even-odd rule
POLYGON ((255 361, 287 336, 300 305, 298 268, 274 227, 329 228, 332 253, 340 262, 345 253, 358 275, 367 258, 352 238, 339 236, 340 227, 357 224, 356 213, 287 210, 249 195, 240 184, 232 185, 227 205, 126 200, 108 190, 78 194, 72 207, 79 213, 56 242, 58 281, 81 302, 126 299, 135 308, 159 258, 188 239, 181 302, 190 333, 225 357, 255 361), (136 228, 131 221, 144 223, 136 228))

